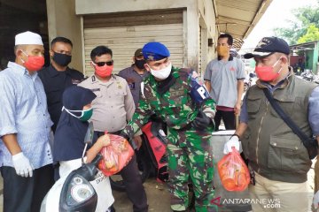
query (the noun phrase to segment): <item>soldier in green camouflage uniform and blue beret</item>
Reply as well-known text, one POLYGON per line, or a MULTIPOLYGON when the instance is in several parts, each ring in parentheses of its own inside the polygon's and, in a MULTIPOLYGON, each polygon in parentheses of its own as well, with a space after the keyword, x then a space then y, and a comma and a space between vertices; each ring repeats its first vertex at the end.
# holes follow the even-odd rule
POLYGON ((209 142, 214 131, 214 105, 205 87, 196 81, 196 72, 178 69, 169 60, 169 50, 159 42, 144 45, 144 79, 135 114, 121 135, 132 137, 155 113, 167 123, 168 186, 171 208, 186 211, 188 183, 195 193, 196 211, 214 211, 213 151, 209 142))

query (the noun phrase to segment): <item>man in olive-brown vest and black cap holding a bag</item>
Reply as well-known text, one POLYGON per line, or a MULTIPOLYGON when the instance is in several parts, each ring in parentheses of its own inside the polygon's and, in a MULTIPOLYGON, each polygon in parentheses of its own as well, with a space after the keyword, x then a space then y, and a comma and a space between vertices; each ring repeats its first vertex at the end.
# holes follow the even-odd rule
POLYGON ((262 91, 268 89, 301 131, 319 140, 319 87, 293 75, 289 53, 283 39, 265 37, 252 53, 245 54, 254 58, 259 79, 248 89, 240 124, 224 146, 227 154, 232 147, 239 150, 239 138, 242 141, 255 179, 249 186, 253 211, 308 211, 310 207, 307 148, 262 91))

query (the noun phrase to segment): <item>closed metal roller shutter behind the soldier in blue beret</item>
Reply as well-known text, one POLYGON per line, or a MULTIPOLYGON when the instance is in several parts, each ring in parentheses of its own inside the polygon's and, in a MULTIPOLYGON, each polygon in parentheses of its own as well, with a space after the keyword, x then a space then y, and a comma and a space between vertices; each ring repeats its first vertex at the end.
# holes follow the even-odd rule
MULTIPOLYGON (((182 13, 182 12, 181 12, 182 13)), ((121 17, 123 23, 131 21, 121 17)), ((92 20, 92 19, 90 19, 92 20)), ((107 19, 105 19, 107 20, 107 19)), ((89 54, 98 45, 105 45, 113 50, 114 73, 132 64, 132 57, 138 48, 143 48, 146 42, 162 42, 171 53, 172 64, 183 66, 183 23, 167 23, 163 25, 116 26, 116 27, 86 27, 84 17, 84 73, 90 76, 94 71, 90 66, 89 54)), ((129 24, 127 24, 129 25, 129 24)), ((90 26, 94 26, 91 24, 90 26)))

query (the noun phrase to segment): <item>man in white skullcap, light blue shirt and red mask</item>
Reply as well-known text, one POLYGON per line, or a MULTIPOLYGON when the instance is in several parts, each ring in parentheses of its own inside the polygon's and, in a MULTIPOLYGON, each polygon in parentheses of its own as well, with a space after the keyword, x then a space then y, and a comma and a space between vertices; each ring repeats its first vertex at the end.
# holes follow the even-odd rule
POLYGON ((51 118, 37 71, 44 64, 41 36, 15 37, 15 62, 0 72, 0 170, 4 212, 40 211, 53 185, 51 118))

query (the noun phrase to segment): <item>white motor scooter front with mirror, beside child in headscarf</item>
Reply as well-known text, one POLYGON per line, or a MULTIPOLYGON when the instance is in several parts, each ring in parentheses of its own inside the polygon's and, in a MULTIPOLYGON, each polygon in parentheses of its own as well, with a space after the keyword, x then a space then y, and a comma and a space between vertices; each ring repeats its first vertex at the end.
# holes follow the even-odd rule
MULTIPOLYGON (((65 167, 62 169, 64 177, 59 178, 46 194, 40 212, 105 212, 113 204, 109 178, 97 169, 102 155, 97 155, 91 163, 84 163, 93 133, 93 125, 89 123, 82 158, 60 164, 65 167)), ((61 169, 59 172, 61 175, 61 169)))

